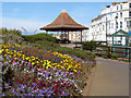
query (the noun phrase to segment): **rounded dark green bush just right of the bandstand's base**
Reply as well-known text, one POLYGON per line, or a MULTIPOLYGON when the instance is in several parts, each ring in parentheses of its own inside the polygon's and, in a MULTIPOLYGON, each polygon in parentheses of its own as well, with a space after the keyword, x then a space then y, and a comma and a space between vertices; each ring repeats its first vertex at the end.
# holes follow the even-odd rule
POLYGON ((83 47, 84 50, 91 50, 91 51, 93 51, 93 50, 96 49, 97 44, 94 40, 85 41, 82 47, 83 47))

